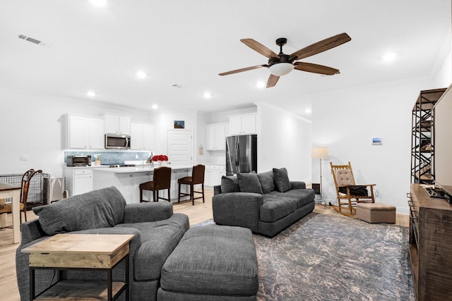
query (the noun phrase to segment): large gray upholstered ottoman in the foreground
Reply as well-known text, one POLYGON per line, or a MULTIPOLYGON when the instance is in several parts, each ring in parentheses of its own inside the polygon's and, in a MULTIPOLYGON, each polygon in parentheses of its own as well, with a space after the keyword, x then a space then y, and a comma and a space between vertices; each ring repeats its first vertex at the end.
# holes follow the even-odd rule
POLYGON ((256 300, 256 247, 251 230, 200 226, 186 231, 162 266, 157 300, 256 300))

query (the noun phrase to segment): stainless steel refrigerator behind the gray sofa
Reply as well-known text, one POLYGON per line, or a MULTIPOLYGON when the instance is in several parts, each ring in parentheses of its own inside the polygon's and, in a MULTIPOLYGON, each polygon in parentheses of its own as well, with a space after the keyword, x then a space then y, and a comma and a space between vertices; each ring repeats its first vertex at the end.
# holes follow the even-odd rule
POLYGON ((226 175, 257 173, 257 135, 226 137, 226 175))

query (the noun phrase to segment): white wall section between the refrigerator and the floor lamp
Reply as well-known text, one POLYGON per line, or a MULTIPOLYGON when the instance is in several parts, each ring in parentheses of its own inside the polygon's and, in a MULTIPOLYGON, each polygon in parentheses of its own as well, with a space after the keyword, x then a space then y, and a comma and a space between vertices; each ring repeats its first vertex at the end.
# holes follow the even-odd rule
POLYGON ((311 182, 311 121, 257 104, 258 172, 287 168, 290 180, 311 182))

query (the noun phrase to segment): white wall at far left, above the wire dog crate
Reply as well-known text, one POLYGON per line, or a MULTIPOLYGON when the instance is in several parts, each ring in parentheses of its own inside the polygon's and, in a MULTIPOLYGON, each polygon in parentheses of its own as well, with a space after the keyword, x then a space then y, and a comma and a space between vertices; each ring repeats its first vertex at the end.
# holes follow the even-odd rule
POLYGON ((50 176, 62 176, 64 165, 64 113, 102 118, 104 113, 121 113, 132 121, 152 122, 148 113, 113 107, 81 99, 59 99, 37 94, 0 90, 0 174, 42 169, 50 176), (28 161, 20 161, 20 155, 28 161))

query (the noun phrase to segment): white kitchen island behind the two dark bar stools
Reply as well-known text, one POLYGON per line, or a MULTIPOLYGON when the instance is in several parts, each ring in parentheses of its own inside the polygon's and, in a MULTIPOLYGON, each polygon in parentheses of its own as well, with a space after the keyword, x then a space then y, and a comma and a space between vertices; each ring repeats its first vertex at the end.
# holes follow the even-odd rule
MULTIPOLYGON (((178 185, 177 180, 185 176, 191 176, 193 166, 185 165, 164 165, 171 167, 171 199, 172 202, 177 201, 178 185)), ((140 202, 139 185, 144 182, 153 180, 154 169, 160 166, 133 166, 133 167, 117 167, 117 168, 93 168, 93 189, 101 189, 114 186, 126 199, 127 204, 140 202)), ((186 186, 186 185, 184 185, 186 186)), ((187 192, 186 188, 183 192, 187 192)), ((160 196, 167 197, 167 190, 160 190, 160 196)), ((152 201, 152 193, 150 191, 143 192, 143 199, 152 201)))

